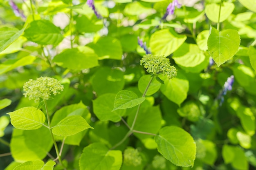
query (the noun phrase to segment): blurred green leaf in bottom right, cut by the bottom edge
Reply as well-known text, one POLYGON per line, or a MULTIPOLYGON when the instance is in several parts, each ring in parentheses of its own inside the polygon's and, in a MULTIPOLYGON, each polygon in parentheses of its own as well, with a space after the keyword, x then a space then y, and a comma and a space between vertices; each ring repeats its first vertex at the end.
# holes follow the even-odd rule
POLYGON ((233 168, 238 170, 248 170, 248 161, 245 152, 237 146, 224 145, 222 148, 222 157, 225 164, 231 163, 233 168))

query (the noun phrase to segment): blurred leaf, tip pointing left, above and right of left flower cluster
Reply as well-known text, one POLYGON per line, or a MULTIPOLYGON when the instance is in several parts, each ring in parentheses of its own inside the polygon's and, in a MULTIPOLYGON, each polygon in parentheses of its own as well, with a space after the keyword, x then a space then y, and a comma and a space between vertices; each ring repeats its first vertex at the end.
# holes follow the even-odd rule
POLYGON ((59 66, 72 70, 83 70, 99 65, 97 54, 87 46, 66 49, 56 55, 52 61, 59 66))

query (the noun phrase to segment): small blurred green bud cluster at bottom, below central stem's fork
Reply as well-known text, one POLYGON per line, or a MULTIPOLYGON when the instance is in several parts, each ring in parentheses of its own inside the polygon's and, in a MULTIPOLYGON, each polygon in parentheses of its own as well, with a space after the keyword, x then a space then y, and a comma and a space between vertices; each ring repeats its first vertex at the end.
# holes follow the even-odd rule
POLYGON ((142 158, 137 149, 129 147, 124 151, 124 163, 127 166, 139 166, 141 161, 142 158))

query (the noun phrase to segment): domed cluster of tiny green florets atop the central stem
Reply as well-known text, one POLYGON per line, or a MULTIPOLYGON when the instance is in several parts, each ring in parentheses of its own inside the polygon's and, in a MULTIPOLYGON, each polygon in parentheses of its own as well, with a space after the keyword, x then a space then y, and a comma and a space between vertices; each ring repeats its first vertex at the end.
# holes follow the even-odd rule
POLYGON ((163 73, 168 79, 173 79, 177 75, 176 68, 171 66, 170 60, 164 56, 147 54, 142 57, 140 64, 144 65, 146 71, 153 75, 163 73))

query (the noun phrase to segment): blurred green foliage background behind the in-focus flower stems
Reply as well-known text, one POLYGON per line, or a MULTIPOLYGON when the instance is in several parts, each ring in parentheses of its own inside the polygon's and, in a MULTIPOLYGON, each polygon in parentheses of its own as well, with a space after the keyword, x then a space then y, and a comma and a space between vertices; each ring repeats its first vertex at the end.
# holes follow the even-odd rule
MULTIPOLYGON (((6 115, 38 106, 22 95, 22 86, 40 76, 64 85, 48 101, 53 125, 73 114, 94 128, 65 139, 62 157, 68 169, 94 169, 99 161, 106 170, 109 162, 115 167, 111 170, 255 169, 255 0, 224 0, 220 17, 220 0, 181 0, 182 7, 166 21, 161 18, 169 0, 96 0, 101 19, 83 0, 13 2, 25 18, 14 15, 8 0, 0 0, 0 154, 11 152, 1 155, 0 169, 35 159, 39 166, 44 163, 38 159, 55 164, 49 161, 55 153, 48 131, 15 129, 6 115), (197 146, 193 168, 166 160, 164 150, 157 152, 155 141, 145 134, 134 133, 109 151, 128 132, 121 117, 131 126, 136 111, 112 112, 115 96, 129 90, 141 97, 149 81, 139 64, 145 52, 138 36, 178 71, 171 81, 160 77, 164 85, 153 81, 135 130, 168 133, 182 141, 184 131, 176 128, 183 128, 197 146), (233 89, 220 106, 218 95, 230 75, 235 77, 233 89), (89 159, 92 154, 99 155, 89 159)), ((63 138, 56 139, 61 146, 63 138)))

